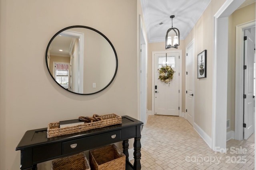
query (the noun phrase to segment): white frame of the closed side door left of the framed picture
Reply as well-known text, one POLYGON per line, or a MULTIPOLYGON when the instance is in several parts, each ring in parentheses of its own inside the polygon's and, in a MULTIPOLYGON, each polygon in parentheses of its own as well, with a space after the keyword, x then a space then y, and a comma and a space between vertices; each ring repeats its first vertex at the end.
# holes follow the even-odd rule
MULTIPOLYGON (((193 73, 192 74, 194 74, 194 72, 195 72, 195 66, 194 66, 194 63, 195 63, 195 40, 194 39, 192 39, 192 41, 190 42, 190 43, 188 43, 188 45, 187 45, 187 47, 186 47, 186 54, 188 53, 188 49, 189 49, 189 47, 190 46, 192 46, 192 49, 193 49, 193 51, 192 51, 192 57, 193 57, 193 63, 192 63, 192 65, 193 65, 193 73)), ((186 71, 187 71, 187 62, 186 62, 186 71)), ((193 84, 193 89, 192 89, 192 91, 193 92, 195 92, 195 90, 194 90, 194 88, 195 88, 195 84, 194 84, 194 78, 195 78, 195 74, 194 74, 194 77, 193 77, 193 79, 192 79, 192 84, 193 84)), ((185 79, 186 80, 186 90, 187 90, 187 79, 185 79)), ((193 106, 193 124, 192 124, 192 126, 194 127, 194 108, 195 108, 195 103, 194 103, 194 98, 193 98, 193 103, 192 103, 192 106, 193 106)), ((185 102, 186 102, 186 108, 187 108, 187 101, 186 101, 186 97, 185 97, 185 102)), ((187 115, 187 113, 185 113, 185 115, 187 115)), ((185 116, 185 118, 186 118, 186 116, 185 116)), ((187 119, 187 118, 186 118, 187 119)))

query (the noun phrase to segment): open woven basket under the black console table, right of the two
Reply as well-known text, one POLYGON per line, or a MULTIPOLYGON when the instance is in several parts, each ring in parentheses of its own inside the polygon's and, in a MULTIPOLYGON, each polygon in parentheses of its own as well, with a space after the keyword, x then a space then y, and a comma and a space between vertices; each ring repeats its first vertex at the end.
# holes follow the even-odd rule
POLYGON ((90 166, 92 170, 125 170, 125 158, 116 145, 108 145, 90 150, 90 166))

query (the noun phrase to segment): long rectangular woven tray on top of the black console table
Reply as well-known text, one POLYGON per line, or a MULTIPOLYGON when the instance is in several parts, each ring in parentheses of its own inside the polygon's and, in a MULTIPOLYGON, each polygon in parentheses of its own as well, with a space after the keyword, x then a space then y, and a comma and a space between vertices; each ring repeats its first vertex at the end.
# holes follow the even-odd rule
POLYGON ((102 121, 94 121, 92 123, 84 123, 83 125, 75 125, 70 127, 60 128, 59 122, 49 123, 47 128, 47 138, 88 131, 110 125, 122 123, 122 117, 116 114, 101 115, 102 121))

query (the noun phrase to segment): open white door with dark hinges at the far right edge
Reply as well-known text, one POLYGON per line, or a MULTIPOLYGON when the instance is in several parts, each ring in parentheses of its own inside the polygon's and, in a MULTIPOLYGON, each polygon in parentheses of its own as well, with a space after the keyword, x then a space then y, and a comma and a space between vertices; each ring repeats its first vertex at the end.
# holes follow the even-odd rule
POLYGON ((244 40, 244 139, 254 133, 254 41, 248 30, 244 40))

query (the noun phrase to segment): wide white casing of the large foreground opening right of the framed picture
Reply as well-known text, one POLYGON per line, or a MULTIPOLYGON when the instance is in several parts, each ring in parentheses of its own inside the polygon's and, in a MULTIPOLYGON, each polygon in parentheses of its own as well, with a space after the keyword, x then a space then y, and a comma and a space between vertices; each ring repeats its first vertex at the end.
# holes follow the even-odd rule
POLYGON ((218 152, 226 152, 228 17, 244 1, 226 0, 214 15, 212 150, 218 152))

